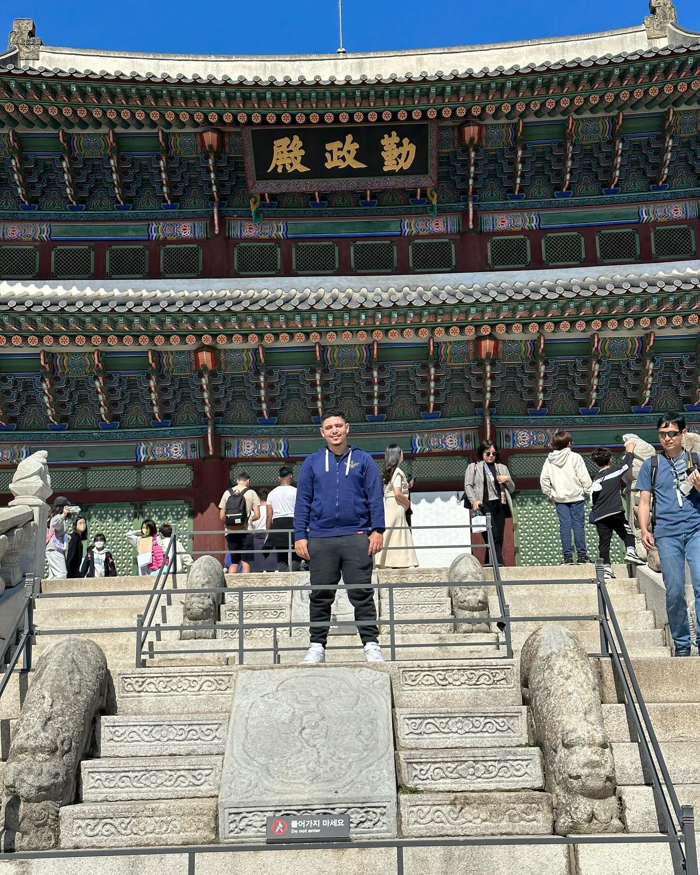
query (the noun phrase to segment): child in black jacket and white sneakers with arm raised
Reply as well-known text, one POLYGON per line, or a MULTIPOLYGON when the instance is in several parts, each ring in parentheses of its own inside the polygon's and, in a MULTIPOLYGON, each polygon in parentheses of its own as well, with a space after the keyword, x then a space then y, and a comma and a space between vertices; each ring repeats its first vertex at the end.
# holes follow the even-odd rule
POLYGON ((599 553, 605 563, 606 578, 614 577, 613 566, 610 563, 610 542, 613 532, 625 542, 625 562, 643 565, 644 560, 637 556, 634 549, 634 534, 629 527, 625 508, 622 504, 622 491, 625 487, 622 479, 627 471, 632 470, 634 458, 634 441, 625 444, 625 458, 620 465, 613 465, 613 453, 606 446, 599 446, 591 453, 591 458, 600 469, 598 477, 593 479, 591 486, 591 522, 598 529, 599 553))

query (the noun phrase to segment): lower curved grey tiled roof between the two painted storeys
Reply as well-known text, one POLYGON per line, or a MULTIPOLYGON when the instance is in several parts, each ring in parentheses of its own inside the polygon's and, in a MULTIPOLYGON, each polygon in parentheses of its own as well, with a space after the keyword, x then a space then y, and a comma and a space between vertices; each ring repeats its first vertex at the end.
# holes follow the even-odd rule
POLYGON ((158 312, 371 310, 508 300, 636 295, 645 291, 700 291, 700 261, 612 266, 606 275, 570 269, 552 278, 546 270, 428 276, 269 277, 240 280, 168 280, 138 285, 66 287, 60 283, 0 283, 0 311, 158 312))

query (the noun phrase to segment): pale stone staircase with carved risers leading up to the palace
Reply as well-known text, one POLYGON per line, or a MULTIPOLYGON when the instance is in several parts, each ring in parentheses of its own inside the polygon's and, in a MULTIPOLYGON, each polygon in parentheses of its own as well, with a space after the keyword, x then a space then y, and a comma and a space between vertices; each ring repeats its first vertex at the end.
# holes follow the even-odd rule
MULTIPOLYGON (((616 579, 608 584, 634 669, 648 704, 662 753, 669 766, 680 802, 700 805, 700 660, 669 658, 662 629, 655 628, 655 614, 648 609, 636 580, 617 566, 616 579)), ((565 613, 586 616, 598 612, 593 584, 574 581, 593 566, 573 568, 503 569, 506 579, 542 581, 571 579, 571 584, 549 586, 539 582, 504 588, 513 616, 565 613)), ((388 583, 395 572, 380 571, 378 606, 381 643, 388 658, 388 634, 382 620, 388 617, 388 583)), ((299 584, 304 575, 274 574, 236 577, 235 584, 253 586, 243 599, 246 622, 279 622, 279 659, 284 665, 298 662, 303 653, 305 630, 290 632, 284 623, 304 620, 304 598, 270 591, 271 585, 299 584), (284 648, 299 648, 285 650, 284 648)), ((406 582, 421 584, 395 591, 396 644, 402 662, 375 664, 388 672, 392 682, 395 766, 398 784, 399 835, 412 838, 465 836, 548 835, 552 830, 552 803, 543 790, 542 755, 532 745, 528 711, 522 704, 518 652, 535 627, 514 624, 514 660, 497 649, 498 634, 492 631, 456 634, 444 626, 417 623, 419 619, 450 617, 451 604, 446 569, 408 570, 406 582), (405 622, 403 622, 405 620, 405 622), (469 641, 475 647, 460 644, 469 641), (437 647, 437 645, 443 645, 437 647), (423 645, 423 647, 418 647, 423 645), (464 656, 470 662, 460 662, 464 656)), ((234 581, 227 577, 229 584, 234 581)), ((152 577, 112 577, 102 580, 45 581, 45 592, 80 592, 96 589, 129 591, 150 589, 152 577)), ((234 584, 234 585, 235 585, 234 584)), ((184 585, 184 581, 183 581, 184 585)), ((490 607, 497 611, 493 585, 486 583, 490 607)), ((345 595, 343 593, 343 595, 345 595)), ((179 625, 182 598, 170 592, 170 605, 161 623, 179 625)), ((346 597, 345 597, 346 598, 346 597)), ((133 626, 144 610, 147 596, 104 596, 87 599, 39 599, 35 614, 39 628, 133 626)), ((334 619, 348 617, 344 604, 334 619)), ((221 623, 238 620, 239 599, 227 593, 221 606, 221 623)), ((308 614, 306 614, 308 616, 308 614)), ((351 615, 350 615, 351 616, 351 615)), ((579 636, 589 653, 599 652, 598 627, 591 620, 565 624, 579 636)), ((340 634, 329 640, 351 649, 329 649, 327 667, 356 665, 362 661, 356 634, 340 634)), ((161 632, 155 641, 155 656, 144 669, 134 669, 133 633, 89 635, 108 656, 114 679, 110 713, 96 726, 95 758, 81 764, 79 802, 60 810, 61 842, 66 848, 138 848, 158 845, 209 844, 219 840, 217 800, 227 744, 231 701, 238 673, 238 631, 217 628, 214 640, 179 641, 179 633, 161 632), (214 653, 206 653, 212 650, 214 653), (170 651, 170 653, 164 653, 170 651), (189 651, 189 652, 188 652, 189 651)), ((39 653, 53 636, 38 636, 39 653)), ((272 662, 271 630, 248 630, 245 662, 269 666, 272 662), (249 633, 249 634, 248 634, 249 633), (248 648, 253 648, 249 650, 248 648), (255 648, 259 651, 255 653, 255 648)), ((613 745, 619 795, 627 830, 638 836, 658 834, 659 819, 651 788, 645 781, 637 743, 630 733, 625 706, 618 704, 610 663, 598 661, 606 727, 613 745)), ((306 669, 305 669, 306 670, 306 669)), ((0 752, 4 760, 19 704, 29 679, 16 674, 0 699, 0 752)), ((0 764, 2 768, 2 764, 0 764)), ((700 814, 700 812, 698 812, 700 814)), ((394 875, 395 854, 382 857, 378 850, 323 853, 318 871, 373 872, 394 875), (356 855, 348 858, 348 854, 356 855), (360 856, 357 856, 360 855, 360 856), (354 859, 352 865, 348 860, 354 859)), ((236 855, 241 872, 272 872, 278 855, 236 855), (244 861, 243 858, 248 858, 244 861), (274 862, 273 862, 274 861, 274 862)), ((109 858, 112 873, 141 872, 121 868, 118 858, 109 858), (112 865, 112 861, 114 865, 112 865)), ((198 855, 197 872, 219 875, 227 855, 198 855), (200 857, 201 866, 200 869, 200 857), (205 863, 205 858, 211 858, 205 863)), ((321 858, 302 852, 283 855, 284 865, 309 871, 321 858), (300 856, 301 855, 301 856, 300 856)), ((57 861, 58 862, 58 861, 57 861)), ((231 861, 228 861, 227 868, 231 861)), ((0 875, 5 875, 0 858, 0 875)), ((39 875, 39 861, 31 875, 39 875)), ((126 864, 124 864, 126 865, 126 864)), ((168 865, 168 858, 162 865, 168 865)), ((673 872, 666 844, 578 844, 571 851, 557 846, 470 846, 410 848, 404 851, 404 872, 514 872, 537 870, 552 875, 670 875, 673 872)), ((237 870, 238 871, 238 870, 237 870)), ((8 875, 15 871, 8 871, 8 875)), ((59 872, 57 870, 57 872, 59 872)), ((45 875, 42 870, 41 875, 45 875)), ((52 875, 52 873, 51 873, 52 875)))

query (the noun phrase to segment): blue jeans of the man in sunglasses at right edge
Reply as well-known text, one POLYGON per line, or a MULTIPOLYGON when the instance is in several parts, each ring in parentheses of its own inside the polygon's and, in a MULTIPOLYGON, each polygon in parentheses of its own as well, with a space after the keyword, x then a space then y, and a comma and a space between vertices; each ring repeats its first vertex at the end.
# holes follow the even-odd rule
POLYGON ((654 540, 662 562, 666 613, 669 616, 671 636, 676 650, 688 650, 690 625, 685 601, 685 562, 688 560, 690 579, 695 591, 696 616, 700 617, 700 530, 692 535, 663 535, 654 540))

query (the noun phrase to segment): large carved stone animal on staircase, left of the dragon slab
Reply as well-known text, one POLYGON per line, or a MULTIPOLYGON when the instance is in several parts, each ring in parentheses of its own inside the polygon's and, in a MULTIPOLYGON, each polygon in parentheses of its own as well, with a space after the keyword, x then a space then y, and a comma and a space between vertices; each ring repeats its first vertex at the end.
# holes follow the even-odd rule
POLYGON ((5 850, 59 846, 59 808, 75 802, 106 696, 107 660, 95 641, 59 638, 39 658, 4 767, 5 850))

